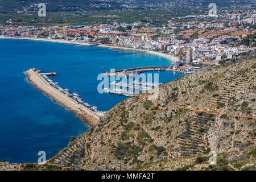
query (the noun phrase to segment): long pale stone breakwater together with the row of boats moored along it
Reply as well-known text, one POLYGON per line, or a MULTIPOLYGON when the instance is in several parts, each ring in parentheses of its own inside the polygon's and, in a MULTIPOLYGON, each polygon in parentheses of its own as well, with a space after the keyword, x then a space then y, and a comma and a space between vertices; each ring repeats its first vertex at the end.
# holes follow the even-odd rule
MULTIPOLYGON (((70 93, 70 90, 61 88, 58 82, 54 82, 46 74, 35 68, 29 69, 24 73, 35 88, 52 98, 53 101, 64 106, 87 125, 93 126, 104 116, 104 111, 98 111, 96 106, 84 102, 78 93, 70 93)), ((50 76, 52 74, 49 74, 50 76)))

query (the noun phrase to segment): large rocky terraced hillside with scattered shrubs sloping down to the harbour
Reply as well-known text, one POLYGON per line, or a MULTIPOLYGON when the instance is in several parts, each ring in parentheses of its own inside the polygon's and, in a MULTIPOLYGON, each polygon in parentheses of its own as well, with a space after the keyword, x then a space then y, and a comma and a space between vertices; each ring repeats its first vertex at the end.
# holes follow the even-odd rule
POLYGON ((178 160, 176 169, 209 151, 255 147, 255 76, 256 60, 246 60, 168 82, 158 100, 128 98, 49 163, 115 170, 178 160))

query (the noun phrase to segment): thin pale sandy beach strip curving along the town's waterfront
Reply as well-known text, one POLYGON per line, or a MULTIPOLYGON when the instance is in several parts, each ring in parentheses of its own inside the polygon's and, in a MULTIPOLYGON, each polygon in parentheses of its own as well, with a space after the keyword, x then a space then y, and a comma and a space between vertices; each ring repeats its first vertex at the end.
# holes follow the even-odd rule
POLYGON ((59 39, 45 39, 45 38, 20 38, 20 37, 3 37, 0 36, 0 39, 18 39, 18 40, 33 40, 33 41, 41 41, 41 42, 55 42, 55 43, 64 43, 64 44, 73 44, 78 46, 97 46, 97 47, 103 47, 103 48, 110 48, 110 49, 122 49, 122 50, 129 50, 129 51, 138 51, 138 52, 147 52, 151 53, 153 55, 164 57, 172 62, 179 61, 179 58, 173 55, 169 55, 167 53, 162 52, 155 52, 150 51, 146 49, 135 49, 135 48, 128 48, 128 47, 116 47, 116 46, 108 46, 105 44, 93 44, 93 43, 80 43, 80 42, 72 42, 68 40, 59 40, 59 39))

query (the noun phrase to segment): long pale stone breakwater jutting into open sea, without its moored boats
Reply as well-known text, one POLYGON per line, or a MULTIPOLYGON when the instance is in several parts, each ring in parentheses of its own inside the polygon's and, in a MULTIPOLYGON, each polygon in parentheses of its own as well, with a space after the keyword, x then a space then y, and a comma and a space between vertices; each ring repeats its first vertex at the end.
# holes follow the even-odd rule
MULTIPOLYGON (((104 115, 103 113, 88 109, 88 107, 85 107, 67 94, 56 89, 44 79, 44 74, 39 72, 40 71, 37 71, 35 68, 32 68, 24 73, 27 75, 28 81, 30 81, 35 88, 46 94, 57 104, 67 108, 88 126, 96 125, 100 121, 100 118, 104 115)), ((50 73, 50 75, 52 74, 50 73)))

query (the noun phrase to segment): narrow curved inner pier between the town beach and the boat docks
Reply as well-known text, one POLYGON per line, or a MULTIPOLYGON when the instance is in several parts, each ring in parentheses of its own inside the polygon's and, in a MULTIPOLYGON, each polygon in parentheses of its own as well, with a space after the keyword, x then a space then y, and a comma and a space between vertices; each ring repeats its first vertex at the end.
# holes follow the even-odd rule
POLYGON ((153 67, 136 67, 136 68, 127 68, 127 69, 119 69, 114 72, 107 72, 105 75, 108 76, 114 76, 118 73, 124 73, 124 72, 149 72, 149 71, 173 71, 173 72, 183 72, 179 71, 177 69, 173 69, 172 66, 153 66, 153 67))

